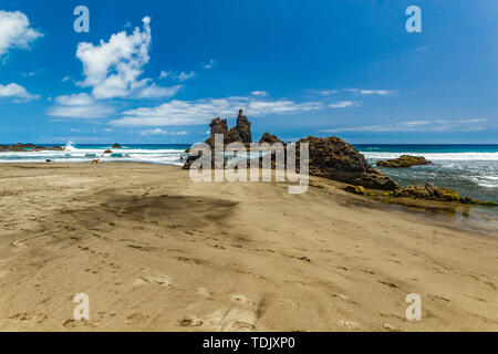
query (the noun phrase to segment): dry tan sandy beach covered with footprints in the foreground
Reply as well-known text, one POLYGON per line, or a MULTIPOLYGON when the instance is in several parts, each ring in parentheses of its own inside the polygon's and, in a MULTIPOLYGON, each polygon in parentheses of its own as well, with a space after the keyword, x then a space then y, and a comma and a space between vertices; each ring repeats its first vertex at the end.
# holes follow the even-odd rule
POLYGON ((141 164, 0 180, 3 331, 498 331, 498 238, 333 181, 289 195, 141 164))

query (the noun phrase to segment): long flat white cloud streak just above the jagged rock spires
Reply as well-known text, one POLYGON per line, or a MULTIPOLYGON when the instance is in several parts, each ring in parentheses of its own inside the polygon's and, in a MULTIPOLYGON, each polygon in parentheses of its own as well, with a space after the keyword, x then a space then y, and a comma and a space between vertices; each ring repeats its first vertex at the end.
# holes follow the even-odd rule
POLYGON ((253 96, 177 101, 155 107, 141 107, 123 113, 111 124, 118 126, 170 126, 205 124, 217 116, 234 116, 242 108, 248 116, 292 114, 323 108, 320 102, 297 103, 290 100, 267 101, 253 96))

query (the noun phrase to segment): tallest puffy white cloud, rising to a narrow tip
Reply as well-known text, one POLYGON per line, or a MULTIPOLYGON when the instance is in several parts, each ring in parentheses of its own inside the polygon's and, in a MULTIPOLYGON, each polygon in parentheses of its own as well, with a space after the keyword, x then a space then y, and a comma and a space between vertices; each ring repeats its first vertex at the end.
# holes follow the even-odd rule
POLYGON ((159 87, 152 79, 141 79, 143 66, 148 63, 151 49, 151 18, 145 17, 143 29, 135 28, 113 34, 108 42, 98 45, 82 42, 77 44, 76 58, 83 63, 85 79, 83 87, 92 87, 95 98, 168 97, 177 88, 159 87))

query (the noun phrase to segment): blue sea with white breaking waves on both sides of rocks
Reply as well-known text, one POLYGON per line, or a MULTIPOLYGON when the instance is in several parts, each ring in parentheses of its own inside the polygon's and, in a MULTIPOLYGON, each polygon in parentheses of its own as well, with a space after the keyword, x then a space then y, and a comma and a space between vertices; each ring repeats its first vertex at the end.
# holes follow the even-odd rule
MULTIPOLYGON (((58 144, 43 144, 55 146, 58 144)), ((104 154, 112 144, 62 144, 63 152, 0 152, 0 163, 84 163, 135 162, 181 166, 180 154, 190 144, 123 144, 123 148, 104 154)), ((59 144, 59 146, 61 146, 59 144)), ((498 201, 498 144, 496 145, 378 145, 359 144, 354 147, 375 166, 381 159, 401 155, 424 156, 430 165, 411 168, 380 168, 402 186, 430 181, 456 189, 463 196, 498 201)), ((111 148, 112 149, 112 148, 111 148)))

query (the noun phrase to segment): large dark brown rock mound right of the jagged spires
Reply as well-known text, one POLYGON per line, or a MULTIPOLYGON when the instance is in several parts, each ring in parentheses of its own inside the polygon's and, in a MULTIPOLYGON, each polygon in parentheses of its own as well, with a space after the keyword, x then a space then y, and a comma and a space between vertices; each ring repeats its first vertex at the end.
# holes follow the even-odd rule
MULTIPOLYGON (((372 189, 394 190, 400 188, 393 178, 372 167, 362 154, 339 137, 309 136, 300 139, 295 144, 297 160, 299 160, 300 154, 299 146, 302 143, 309 144, 309 166, 312 176, 372 189)), ((297 165, 299 164, 297 163, 297 165)))

